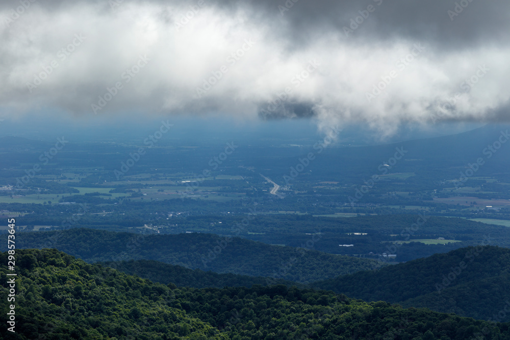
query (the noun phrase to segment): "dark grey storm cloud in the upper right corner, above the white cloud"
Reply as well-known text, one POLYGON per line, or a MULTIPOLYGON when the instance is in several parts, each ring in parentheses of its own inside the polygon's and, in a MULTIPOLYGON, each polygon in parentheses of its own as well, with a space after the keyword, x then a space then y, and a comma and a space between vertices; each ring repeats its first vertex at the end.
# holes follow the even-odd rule
MULTIPOLYGON (((283 1, 276 3, 285 7, 283 1)), ((276 12, 272 2, 268 2, 264 7, 268 12, 271 9, 276 12)), ((454 49, 468 48, 480 43, 507 44, 510 39, 507 34, 510 28, 510 3, 504 1, 299 0, 283 13, 285 20, 291 23, 289 31, 296 33, 296 39, 300 36, 324 34, 330 30, 343 32, 344 28, 351 29, 351 25, 356 27, 358 22, 361 23, 350 38, 365 42, 410 39, 454 49), (367 16, 369 6, 373 7, 373 12, 369 12, 364 21, 358 18, 356 22, 356 17, 367 16)))

